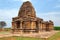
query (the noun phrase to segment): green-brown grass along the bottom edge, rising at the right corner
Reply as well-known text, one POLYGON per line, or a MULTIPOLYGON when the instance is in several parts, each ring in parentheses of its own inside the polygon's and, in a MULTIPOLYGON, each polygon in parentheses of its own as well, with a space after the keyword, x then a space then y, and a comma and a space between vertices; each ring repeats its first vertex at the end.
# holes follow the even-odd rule
POLYGON ((0 40, 60 40, 60 32, 56 33, 54 36, 48 39, 31 38, 31 37, 4 37, 0 38, 0 40))

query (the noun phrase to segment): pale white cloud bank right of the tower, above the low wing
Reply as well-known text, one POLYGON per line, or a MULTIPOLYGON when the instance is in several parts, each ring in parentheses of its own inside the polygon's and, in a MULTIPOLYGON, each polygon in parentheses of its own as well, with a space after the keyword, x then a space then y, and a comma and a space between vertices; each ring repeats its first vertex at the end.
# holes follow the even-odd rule
POLYGON ((45 21, 52 20, 55 26, 60 26, 60 12, 40 13, 37 16, 45 21))

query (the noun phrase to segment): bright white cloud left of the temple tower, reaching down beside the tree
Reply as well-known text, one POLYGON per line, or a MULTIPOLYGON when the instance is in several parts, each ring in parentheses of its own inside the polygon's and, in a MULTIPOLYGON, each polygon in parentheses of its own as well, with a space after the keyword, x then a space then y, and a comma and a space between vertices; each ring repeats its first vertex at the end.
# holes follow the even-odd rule
POLYGON ((12 18, 18 15, 17 9, 0 9, 0 21, 5 21, 7 27, 11 27, 12 18))

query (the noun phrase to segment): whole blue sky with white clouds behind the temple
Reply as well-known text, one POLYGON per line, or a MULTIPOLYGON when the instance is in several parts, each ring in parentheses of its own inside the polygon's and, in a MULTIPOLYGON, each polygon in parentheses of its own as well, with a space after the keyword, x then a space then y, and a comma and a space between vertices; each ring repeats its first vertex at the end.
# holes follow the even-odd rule
POLYGON ((0 0, 0 21, 5 21, 7 27, 11 27, 12 18, 18 15, 25 1, 32 3, 37 17, 52 20, 55 26, 60 26, 60 0, 0 0))

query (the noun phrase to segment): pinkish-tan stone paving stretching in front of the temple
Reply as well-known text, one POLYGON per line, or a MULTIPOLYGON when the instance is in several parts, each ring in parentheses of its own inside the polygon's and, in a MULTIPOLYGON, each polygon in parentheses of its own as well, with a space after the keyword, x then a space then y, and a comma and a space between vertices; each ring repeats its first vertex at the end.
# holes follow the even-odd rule
POLYGON ((36 37, 36 38, 49 38, 59 31, 50 31, 50 32, 40 32, 40 33, 9 33, 9 34, 0 34, 1 37, 10 37, 10 36, 23 36, 23 37, 36 37))

